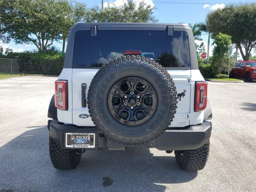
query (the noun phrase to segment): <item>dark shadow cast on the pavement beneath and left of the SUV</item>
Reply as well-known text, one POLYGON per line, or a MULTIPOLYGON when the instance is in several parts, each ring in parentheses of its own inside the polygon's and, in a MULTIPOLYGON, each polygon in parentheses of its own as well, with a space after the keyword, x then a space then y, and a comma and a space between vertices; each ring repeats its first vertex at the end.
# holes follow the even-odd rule
MULTIPOLYGON (((35 126, 36 127, 36 126, 35 126)), ((175 158, 149 149, 88 150, 75 170, 56 170, 48 154, 47 127, 28 130, 0 147, 0 191, 158 191, 193 180, 175 158), (105 181, 110 184, 104 185, 105 181)), ((173 155, 173 154, 172 154, 173 155)))

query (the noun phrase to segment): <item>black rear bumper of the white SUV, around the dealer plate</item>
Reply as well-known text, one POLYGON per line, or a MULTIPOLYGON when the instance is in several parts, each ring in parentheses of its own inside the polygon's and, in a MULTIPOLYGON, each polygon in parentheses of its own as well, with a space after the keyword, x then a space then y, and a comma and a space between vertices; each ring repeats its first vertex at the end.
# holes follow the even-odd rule
MULTIPOLYGON (((124 148, 124 147, 142 147, 142 148, 157 148, 159 150, 189 150, 197 149, 203 146, 211 136, 212 123, 204 121, 200 125, 188 126, 186 128, 172 128, 166 130, 158 138, 142 145, 125 145, 115 142, 107 138, 96 127, 82 127, 70 124, 59 123, 58 120, 50 120, 49 129, 50 136, 61 145, 62 149, 65 147, 65 133, 95 133, 96 145, 90 150, 97 150, 101 148, 124 148)), ((70 149, 70 148, 69 148, 70 149)))

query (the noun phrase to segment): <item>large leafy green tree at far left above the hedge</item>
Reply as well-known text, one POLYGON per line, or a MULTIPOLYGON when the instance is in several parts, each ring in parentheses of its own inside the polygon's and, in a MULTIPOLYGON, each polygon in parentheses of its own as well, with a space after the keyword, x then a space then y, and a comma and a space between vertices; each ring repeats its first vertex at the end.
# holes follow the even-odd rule
POLYGON ((67 0, 0 0, 0 33, 5 42, 34 44, 45 51, 60 38, 67 0))

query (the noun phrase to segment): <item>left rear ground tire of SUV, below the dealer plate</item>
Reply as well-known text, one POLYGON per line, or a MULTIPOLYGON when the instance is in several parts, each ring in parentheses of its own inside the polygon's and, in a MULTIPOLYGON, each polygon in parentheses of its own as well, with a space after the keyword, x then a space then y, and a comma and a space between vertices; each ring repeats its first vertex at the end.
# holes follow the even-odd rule
POLYGON ((54 168, 56 169, 74 169, 80 162, 81 155, 76 150, 61 149, 52 137, 49 137, 49 152, 54 168))

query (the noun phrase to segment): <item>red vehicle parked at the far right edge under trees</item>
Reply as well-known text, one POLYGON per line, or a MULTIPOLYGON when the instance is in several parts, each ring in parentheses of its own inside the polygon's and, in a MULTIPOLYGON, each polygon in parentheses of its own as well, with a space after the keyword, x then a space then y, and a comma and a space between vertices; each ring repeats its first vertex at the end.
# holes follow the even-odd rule
POLYGON ((245 81, 256 81, 256 61, 237 61, 230 76, 244 78, 245 81))

